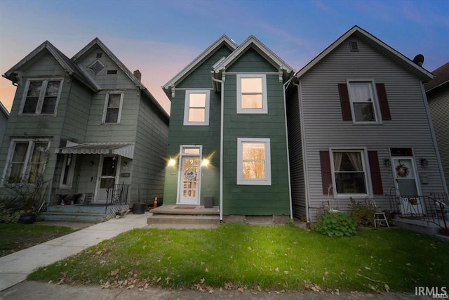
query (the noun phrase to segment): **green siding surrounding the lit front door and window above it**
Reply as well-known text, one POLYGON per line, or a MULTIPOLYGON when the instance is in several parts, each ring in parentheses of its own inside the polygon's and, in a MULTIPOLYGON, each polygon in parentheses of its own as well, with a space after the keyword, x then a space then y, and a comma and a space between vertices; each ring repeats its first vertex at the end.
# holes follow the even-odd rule
MULTIPOLYGON (((229 48, 222 46, 206 59, 196 70, 176 86, 177 89, 212 89, 210 71, 229 48)), ((185 90, 176 90, 171 100, 170 129, 168 135, 168 157, 179 160, 180 145, 202 145, 203 157, 210 157, 210 165, 201 169, 200 201, 204 196, 213 196, 213 204, 220 201, 220 93, 210 91, 209 126, 184 126, 185 90)), ((177 162, 167 167, 163 193, 164 204, 175 204, 177 196, 177 162)))

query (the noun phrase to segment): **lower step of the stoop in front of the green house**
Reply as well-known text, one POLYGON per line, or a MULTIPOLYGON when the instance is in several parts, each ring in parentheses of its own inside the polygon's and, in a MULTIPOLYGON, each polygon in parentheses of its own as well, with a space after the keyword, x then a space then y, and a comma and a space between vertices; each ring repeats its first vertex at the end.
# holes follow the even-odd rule
POLYGON ((153 214, 147 223, 149 228, 216 228, 220 216, 153 214))

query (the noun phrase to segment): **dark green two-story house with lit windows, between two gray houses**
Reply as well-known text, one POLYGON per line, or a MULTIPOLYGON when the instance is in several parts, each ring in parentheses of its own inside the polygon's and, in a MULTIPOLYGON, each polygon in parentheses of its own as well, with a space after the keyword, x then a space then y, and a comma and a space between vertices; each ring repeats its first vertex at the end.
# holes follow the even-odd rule
POLYGON ((284 87, 293 69, 253 36, 222 36, 163 86, 171 100, 164 205, 221 221, 292 214, 284 87))

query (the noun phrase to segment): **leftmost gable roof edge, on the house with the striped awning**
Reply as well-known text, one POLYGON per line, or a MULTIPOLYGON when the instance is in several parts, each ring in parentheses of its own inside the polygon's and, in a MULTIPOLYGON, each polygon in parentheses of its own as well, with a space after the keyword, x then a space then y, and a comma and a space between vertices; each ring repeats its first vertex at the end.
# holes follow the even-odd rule
POLYGON ((18 84, 18 82, 20 81, 20 69, 22 67, 25 67, 29 63, 32 63, 34 59, 39 58, 39 55, 43 53, 43 51, 48 51, 49 53, 51 53, 53 58, 55 58, 55 60, 60 64, 62 69, 64 69, 65 72, 67 72, 70 76, 76 77, 76 79, 83 82, 83 84, 86 84, 86 86, 88 86, 88 88, 92 91, 98 91, 95 84, 93 84, 91 80, 83 75, 83 72, 81 72, 79 67, 72 63, 72 61, 69 60, 69 58, 67 58, 64 53, 59 51, 59 49, 53 46, 53 44, 51 44, 49 41, 44 41, 31 53, 25 56, 25 58, 22 58, 20 62, 11 67, 10 70, 6 71, 2 76, 13 81, 13 84, 18 84))

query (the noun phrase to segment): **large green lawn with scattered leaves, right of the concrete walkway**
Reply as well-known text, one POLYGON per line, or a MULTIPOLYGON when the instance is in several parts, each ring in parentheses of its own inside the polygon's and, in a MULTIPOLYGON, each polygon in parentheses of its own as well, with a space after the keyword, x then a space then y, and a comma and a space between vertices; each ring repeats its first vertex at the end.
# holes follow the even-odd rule
POLYGON ((446 286, 449 242, 397 228, 327 237, 293 226, 135 229, 29 275, 119 287, 413 292, 446 286))

